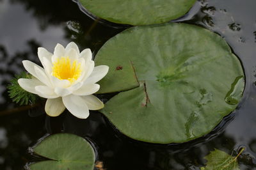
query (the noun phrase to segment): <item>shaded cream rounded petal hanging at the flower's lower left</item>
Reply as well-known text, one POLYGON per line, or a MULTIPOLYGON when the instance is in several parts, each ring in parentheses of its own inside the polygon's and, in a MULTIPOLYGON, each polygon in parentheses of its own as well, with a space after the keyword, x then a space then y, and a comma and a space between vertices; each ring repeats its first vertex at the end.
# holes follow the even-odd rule
POLYGON ((65 109, 61 97, 48 98, 45 103, 45 112, 52 117, 59 116, 65 109))

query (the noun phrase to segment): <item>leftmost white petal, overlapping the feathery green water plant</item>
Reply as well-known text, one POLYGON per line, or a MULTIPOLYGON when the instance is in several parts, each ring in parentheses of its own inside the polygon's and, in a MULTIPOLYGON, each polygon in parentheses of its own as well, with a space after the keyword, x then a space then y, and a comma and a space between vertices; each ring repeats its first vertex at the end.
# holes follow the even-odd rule
POLYGON ((35 86, 43 85, 38 79, 19 79, 18 83, 22 89, 34 94, 37 94, 35 86))

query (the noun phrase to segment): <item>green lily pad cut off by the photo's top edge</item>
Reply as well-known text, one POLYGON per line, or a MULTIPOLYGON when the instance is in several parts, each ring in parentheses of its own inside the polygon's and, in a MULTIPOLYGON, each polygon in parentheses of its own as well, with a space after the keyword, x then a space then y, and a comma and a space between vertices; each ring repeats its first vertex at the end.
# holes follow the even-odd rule
POLYGON ((133 26, 161 24, 182 17, 196 0, 80 0, 93 15, 133 26))

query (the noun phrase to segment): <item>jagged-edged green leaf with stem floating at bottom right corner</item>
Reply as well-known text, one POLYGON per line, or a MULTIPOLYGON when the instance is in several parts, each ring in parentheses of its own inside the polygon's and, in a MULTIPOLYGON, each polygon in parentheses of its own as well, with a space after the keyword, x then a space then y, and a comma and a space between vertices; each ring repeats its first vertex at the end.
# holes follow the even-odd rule
POLYGON ((244 151, 244 148, 236 157, 228 155, 224 151, 214 150, 205 157, 207 166, 201 167, 202 170, 239 170, 237 158, 244 151))

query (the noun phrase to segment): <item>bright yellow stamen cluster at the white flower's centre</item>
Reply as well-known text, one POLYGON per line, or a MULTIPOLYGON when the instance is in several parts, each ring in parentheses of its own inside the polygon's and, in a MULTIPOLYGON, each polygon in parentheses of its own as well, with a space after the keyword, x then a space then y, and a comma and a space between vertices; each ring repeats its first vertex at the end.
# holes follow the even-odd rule
POLYGON ((76 81, 81 75, 81 63, 77 64, 77 61, 70 61, 69 57, 58 58, 53 63, 52 75, 61 80, 68 80, 70 82, 76 81))

